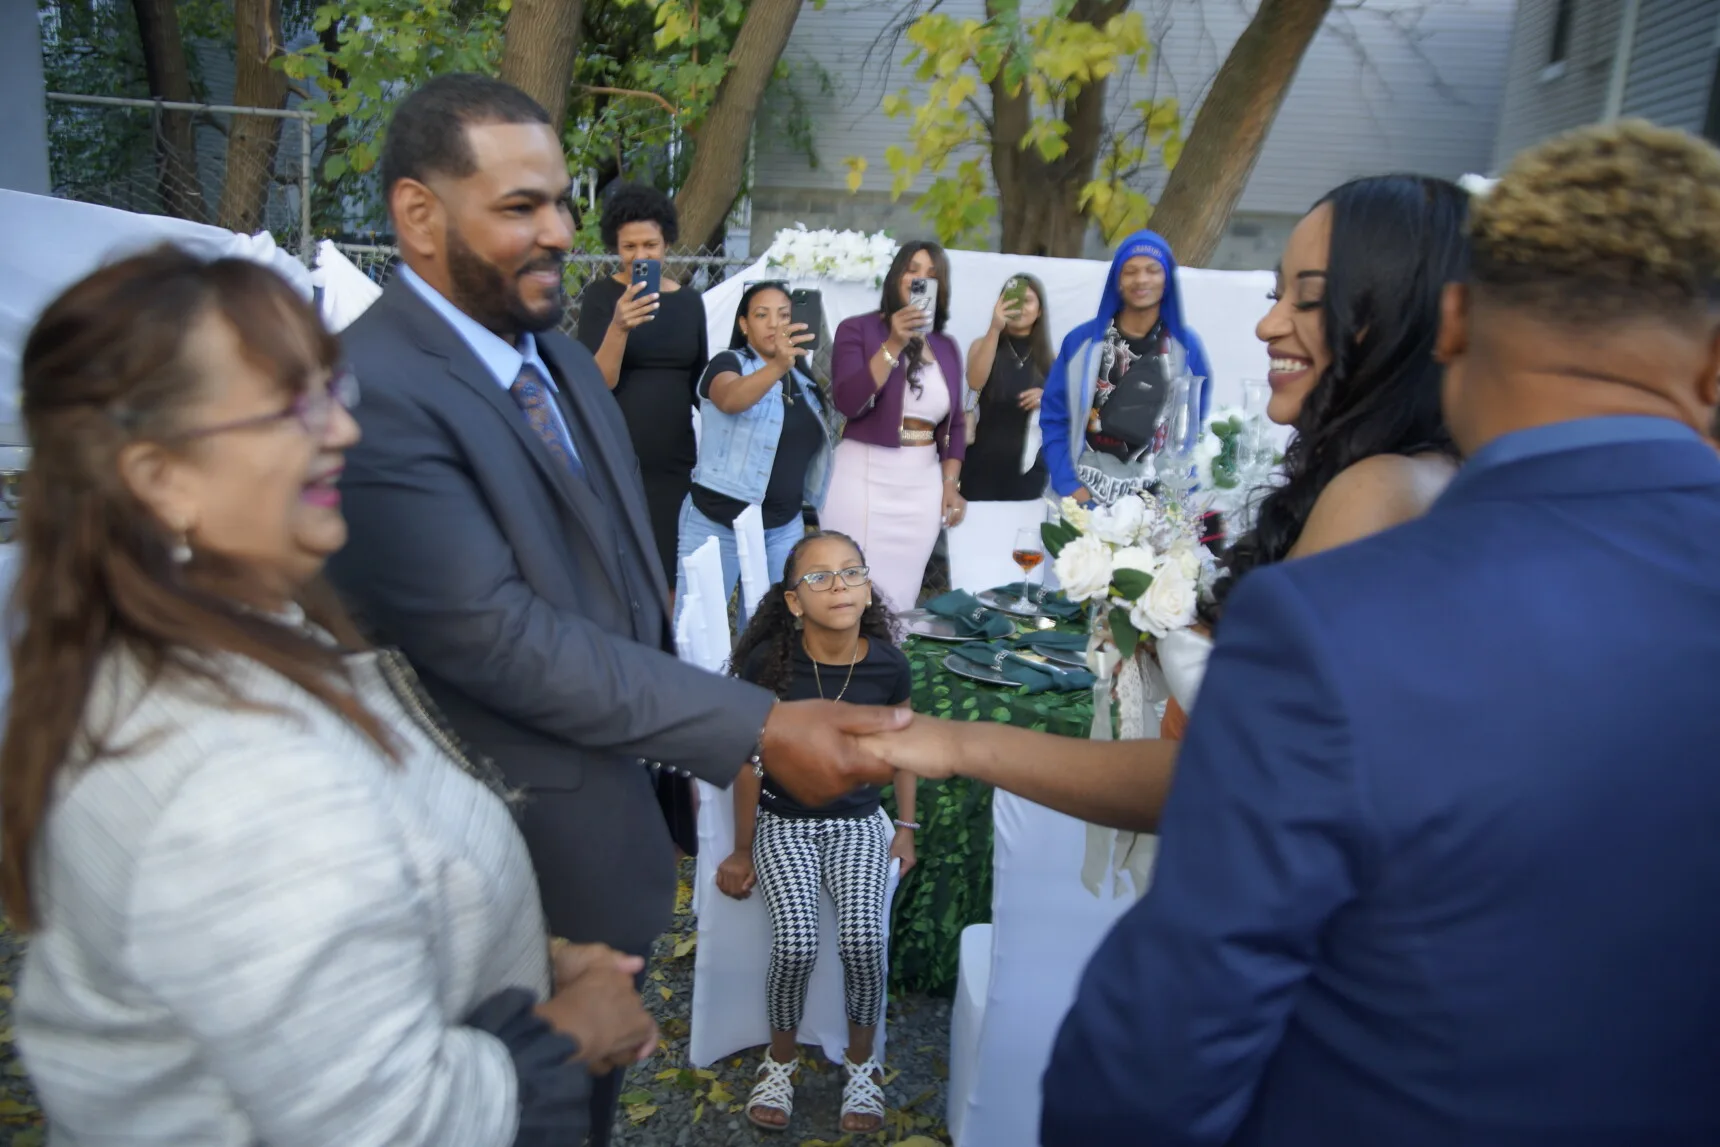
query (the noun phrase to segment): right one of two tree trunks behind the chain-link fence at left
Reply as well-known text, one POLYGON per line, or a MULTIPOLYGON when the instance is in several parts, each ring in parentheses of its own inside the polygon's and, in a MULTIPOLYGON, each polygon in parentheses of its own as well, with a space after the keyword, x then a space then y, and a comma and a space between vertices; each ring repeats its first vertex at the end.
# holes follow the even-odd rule
MULTIPOLYGON (((243 108, 287 107, 287 76, 270 60, 280 46, 280 0, 234 0, 232 101, 243 108)), ((227 129, 227 174, 215 222, 227 230, 261 230, 268 187, 275 179, 275 144, 280 120, 234 115, 227 129)), ((310 242, 310 236, 304 236, 310 242)))

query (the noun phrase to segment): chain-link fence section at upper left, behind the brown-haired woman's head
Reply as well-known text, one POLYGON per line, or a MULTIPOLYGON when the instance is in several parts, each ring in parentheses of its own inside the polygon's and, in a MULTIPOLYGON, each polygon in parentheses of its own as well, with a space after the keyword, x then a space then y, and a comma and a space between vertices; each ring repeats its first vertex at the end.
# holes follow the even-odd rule
POLYGON ((48 93, 53 193, 227 230, 311 260, 313 115, 48 93))

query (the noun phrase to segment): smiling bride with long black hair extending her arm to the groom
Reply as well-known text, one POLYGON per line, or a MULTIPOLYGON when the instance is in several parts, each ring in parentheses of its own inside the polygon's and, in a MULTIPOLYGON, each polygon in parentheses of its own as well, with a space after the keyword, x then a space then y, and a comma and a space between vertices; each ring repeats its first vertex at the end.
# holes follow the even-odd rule
MULTIPOLYGON (((1419 518, 1457 471, 1433 353, 1440 292, 1467 270, 1467 210, 1457 184, 1378 175, 1331 191, 1297 224, 1256 327, 1271 359, 1268 418, 1295 426, 1297 442, 1285 481, 1228 555, 1219 600, 1250 569, 1419 518)), ((1151 832, 1176 745, 915 717, 874 748, 922 777, 968 776, 1082 820, 1151 832)))

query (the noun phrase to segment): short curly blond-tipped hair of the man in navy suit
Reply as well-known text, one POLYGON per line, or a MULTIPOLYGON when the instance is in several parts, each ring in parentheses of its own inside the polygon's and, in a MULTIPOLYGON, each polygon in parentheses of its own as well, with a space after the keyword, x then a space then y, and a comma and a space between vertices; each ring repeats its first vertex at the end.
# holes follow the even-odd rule
POLYGON ((1567 323, 1720 306, 1720 150, 1646 120, 1531 148, 1471 215, 1472 280, 1567 323))

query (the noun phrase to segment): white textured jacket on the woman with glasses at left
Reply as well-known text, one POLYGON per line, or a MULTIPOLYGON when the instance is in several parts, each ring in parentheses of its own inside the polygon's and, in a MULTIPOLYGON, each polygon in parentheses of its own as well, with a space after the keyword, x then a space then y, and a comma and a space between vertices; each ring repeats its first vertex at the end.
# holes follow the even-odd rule
POLYGON ((349 664, 399 764, 256 662, 229 681, 279 712, 105 662, 86 726, 132 751, 58 789, 15 1001, 52 1144, 514 1142, 514 1063, 463 1020, 549 989, 525 843, 349 664))

